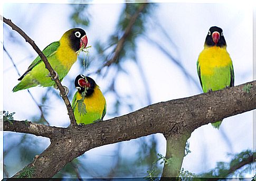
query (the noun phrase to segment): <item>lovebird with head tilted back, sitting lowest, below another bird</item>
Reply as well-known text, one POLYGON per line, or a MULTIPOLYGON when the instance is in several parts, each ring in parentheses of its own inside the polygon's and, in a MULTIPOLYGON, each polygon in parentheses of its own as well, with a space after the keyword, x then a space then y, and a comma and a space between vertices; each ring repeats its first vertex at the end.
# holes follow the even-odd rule
POLYGON ((80 74, 75 78, 74 85, 78 90, 73 96, 72 108, 77 124, 102 120, 106 114, 106 99, 96 82, 80 74))

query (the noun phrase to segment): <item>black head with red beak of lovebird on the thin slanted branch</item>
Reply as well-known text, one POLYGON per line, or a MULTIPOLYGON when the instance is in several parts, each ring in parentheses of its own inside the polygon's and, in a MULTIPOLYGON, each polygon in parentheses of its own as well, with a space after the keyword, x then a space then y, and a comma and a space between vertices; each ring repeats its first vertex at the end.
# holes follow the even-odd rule
POLYGON ((70 45, 73 51, 77 52, 82 47, 82 45, 84 45, 84 48, 87 46, 88 39, 86 36, 86 32, 83 29, 72 28, 66 33, 68 35, 70 45))

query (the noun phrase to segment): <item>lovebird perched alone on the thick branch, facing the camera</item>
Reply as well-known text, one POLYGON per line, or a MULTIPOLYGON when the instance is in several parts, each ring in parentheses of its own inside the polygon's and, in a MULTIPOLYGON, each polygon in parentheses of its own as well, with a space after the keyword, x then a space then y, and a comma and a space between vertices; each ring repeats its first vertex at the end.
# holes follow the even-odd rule
MULTIPOLYGON (((213 26, 208 31, 204 49, 197 60, 197 74, 204 93, 234 86, 233 64, 220 27, 213 26)), ((221 122, 212 125, 219 129, 221 122)))

